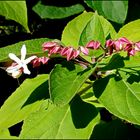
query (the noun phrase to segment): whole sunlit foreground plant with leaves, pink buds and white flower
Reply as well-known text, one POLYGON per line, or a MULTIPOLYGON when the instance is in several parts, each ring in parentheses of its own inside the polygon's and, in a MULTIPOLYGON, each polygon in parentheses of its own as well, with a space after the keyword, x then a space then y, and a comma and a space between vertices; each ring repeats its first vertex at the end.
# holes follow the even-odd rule
POLYGON ((102 16, 84 12, 68 23, 61 41, 41 38, 1 48, 0 61, 9 61, 8 54, 12 59, 6 71, 13 78, 47 69, 25 78, 2 105, 1 131, 23 122, 22 139, 96 139, 128 132, 129 124, 139 127, 140 36, 135 27, 126 32, 139 23, 116 33, 102 16))

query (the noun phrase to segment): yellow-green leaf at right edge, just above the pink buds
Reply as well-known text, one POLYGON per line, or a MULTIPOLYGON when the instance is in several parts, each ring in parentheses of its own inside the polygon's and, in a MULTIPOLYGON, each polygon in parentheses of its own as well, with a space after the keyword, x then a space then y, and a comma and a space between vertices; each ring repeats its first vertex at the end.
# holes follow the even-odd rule
POLYGON ((140 41, 140 19, 129 22, 124 25, 118 32, 117 37, 126 37, 131 41, 140 41))

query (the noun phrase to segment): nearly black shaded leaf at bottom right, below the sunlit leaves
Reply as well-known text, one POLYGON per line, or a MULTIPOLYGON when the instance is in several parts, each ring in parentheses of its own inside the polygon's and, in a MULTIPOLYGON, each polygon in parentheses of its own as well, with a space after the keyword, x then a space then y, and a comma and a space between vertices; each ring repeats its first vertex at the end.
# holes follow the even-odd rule
POLYGON ((113 120, 107 123, 102 122, 95 126, 91 139, 133 140, 134 137, 136 138, 134 131, 135 131, 134 129, 128 127, 128 125, 123 123, 121 120, 113 120))

